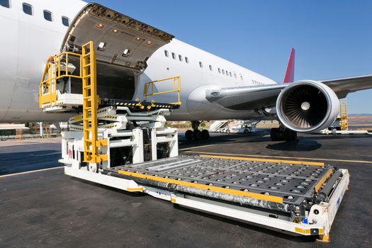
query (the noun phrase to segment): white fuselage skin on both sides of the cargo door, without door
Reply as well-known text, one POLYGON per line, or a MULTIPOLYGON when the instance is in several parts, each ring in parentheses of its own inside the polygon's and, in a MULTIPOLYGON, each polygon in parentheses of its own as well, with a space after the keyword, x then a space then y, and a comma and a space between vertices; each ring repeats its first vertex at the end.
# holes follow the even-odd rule
MULTIPOLYGON (((85 5, 86 2, 79 0, 11 0, 11 8, 0 6, 3 29, 0 41, 0 122, 67 120, 65 114, 46 114, 40 110, 38 88, 47 57, 59 52, 67 32, 62 16, 69 18, 71 23, 85 5), (23 2, 33 6, 32 16, 23 13, 23 2), (44 10, 52 12, 53 21, 45 20, 44 10)), ((249 69, 173 39, 147 61, 147 69, 136 78, 133 99, 143 98, 146 82, 174 76, 181 76, 182 104, 179 110, 171 113, 169 120, 259 118, 253 110, 231 111, 210 103, 205 99, 205 89, 276 84, 249 69)), ((158 89, 169 89, 169 84, 158 84, 158 89)), ((175 95, 161 95, 155 100, 171 102, 175 101, 175 95)))

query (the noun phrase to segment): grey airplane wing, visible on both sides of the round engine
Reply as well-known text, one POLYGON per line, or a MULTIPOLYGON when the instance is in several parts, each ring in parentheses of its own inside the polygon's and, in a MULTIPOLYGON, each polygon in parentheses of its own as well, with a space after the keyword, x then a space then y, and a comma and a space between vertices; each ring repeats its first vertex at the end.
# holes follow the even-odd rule
MULTIPOLYGON (((342 79, 319 80, 331 88, 338 98, 365 89, 372 89, 372 75, 347 77, 342 79)), ((291 84, 269 84, 263 86, 241 86, 208 90, 205 98, 235 111, 264 109, 274 107, 276 98, 291 84)))

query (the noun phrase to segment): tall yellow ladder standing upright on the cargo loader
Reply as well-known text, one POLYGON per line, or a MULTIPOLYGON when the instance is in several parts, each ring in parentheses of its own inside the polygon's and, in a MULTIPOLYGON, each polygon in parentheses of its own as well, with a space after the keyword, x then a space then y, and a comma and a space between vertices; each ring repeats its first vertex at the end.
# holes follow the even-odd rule
POLYGON ((100 163, 107 161, 107 154, 98 154, 98 147, 107 146, 107 140, 98 140, 97 134, 97 75, 96 52, 92 41, 84 44, 81 55, 83 81, 83 128, 84 162, 100 163))

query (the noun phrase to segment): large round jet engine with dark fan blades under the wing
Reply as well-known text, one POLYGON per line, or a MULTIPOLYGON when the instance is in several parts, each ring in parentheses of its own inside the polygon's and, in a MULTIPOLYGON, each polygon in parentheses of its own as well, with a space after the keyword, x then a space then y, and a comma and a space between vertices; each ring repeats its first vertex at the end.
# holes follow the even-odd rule
POLYGON ((313 132, 328 128, 339 115, 339 98, 319 81, 296 81, 281 91, 276 113, 286 128, 313 132))

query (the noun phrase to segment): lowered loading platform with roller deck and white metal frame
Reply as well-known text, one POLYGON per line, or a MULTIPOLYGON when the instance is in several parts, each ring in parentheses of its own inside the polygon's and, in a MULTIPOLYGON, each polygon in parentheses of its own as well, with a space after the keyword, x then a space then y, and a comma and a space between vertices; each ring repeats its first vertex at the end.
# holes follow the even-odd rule
POLYGON ((349 172, 322 163, 176 156, 65 174, 295 235, 329 240, 349 172))

